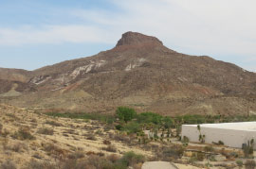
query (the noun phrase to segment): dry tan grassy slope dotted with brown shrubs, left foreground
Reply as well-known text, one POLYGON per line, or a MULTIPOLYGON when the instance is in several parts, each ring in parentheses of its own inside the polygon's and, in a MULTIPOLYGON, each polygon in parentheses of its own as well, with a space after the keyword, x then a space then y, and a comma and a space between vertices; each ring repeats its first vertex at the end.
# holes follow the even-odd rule
POLYGON ((92 169, 112 169, 119 166, 121 169, 127 168, 119 163, 125 152, 135 151, 152 156, 150 151, 130 146, 130 136, 115 133, 115 130, 107 129, 105 132, 105 126, 98 121, 55 119, 12 107, 1 110, 1 104, 0 116, 0 124, 3 126, 0 135, 0 163, 5 166, 11 165, 11 162, 6 161, 11 157, 12 163, 18 168, 27 166, 55 169, 57 166, 58 169, 80 169, 79 167, 87 166, 92 169), (112 155, 113 153, 116 155, 112 155))

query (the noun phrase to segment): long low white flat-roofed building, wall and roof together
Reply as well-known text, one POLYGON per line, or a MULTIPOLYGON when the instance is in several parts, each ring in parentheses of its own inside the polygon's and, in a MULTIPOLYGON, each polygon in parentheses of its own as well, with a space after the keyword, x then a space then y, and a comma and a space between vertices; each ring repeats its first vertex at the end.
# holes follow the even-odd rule
POLYGON ((229 147, 242 148, 242 144, 252 139, 256 144, 256 122, 239 122, 223 124, 183 125, 182 138, 190 139, 190 142, 199 143, 199 135, 205 135, 205 143, 212 144, 223 142, 229 147))

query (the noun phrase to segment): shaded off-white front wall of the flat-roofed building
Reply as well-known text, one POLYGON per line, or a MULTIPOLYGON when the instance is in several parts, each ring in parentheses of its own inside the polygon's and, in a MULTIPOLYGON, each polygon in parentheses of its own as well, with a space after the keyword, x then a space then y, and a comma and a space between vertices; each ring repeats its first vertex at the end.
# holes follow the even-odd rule
MULTIPOLYGON (((235 130, 227 128, 201 127, 202 135, 205 135, 207 144, 218 143, 222 141, 229 147, 242 148, 242 144, 247 144, 247 141, 254 139, 256 142, 256 131, 235 130)), ((187 136, 190 142, 199 143, 199 131, 197 126, 183 125, 182 138, 187 136)))

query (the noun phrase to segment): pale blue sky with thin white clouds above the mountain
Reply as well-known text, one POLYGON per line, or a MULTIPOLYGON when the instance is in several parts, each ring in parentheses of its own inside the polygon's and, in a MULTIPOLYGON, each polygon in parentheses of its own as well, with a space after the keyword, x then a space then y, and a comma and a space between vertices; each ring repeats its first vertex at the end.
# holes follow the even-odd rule
POLYGON ((256 72, 255 0, 0 0, 0 67, 92 56, 140 32, 256 72))

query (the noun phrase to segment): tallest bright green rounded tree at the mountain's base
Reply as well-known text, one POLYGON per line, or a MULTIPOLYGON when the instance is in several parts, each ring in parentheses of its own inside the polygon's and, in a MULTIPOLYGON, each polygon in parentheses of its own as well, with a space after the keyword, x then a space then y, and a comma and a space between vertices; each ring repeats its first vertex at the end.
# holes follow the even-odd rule
POLYGON ((136 110, 126 107, 119 107, 118 110, 116 110, 116 114, 119 120, 123 120, 125 123, 133 120, 137 116, 136 110))

